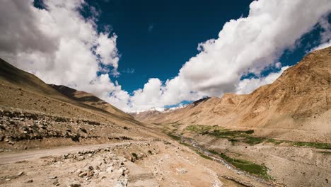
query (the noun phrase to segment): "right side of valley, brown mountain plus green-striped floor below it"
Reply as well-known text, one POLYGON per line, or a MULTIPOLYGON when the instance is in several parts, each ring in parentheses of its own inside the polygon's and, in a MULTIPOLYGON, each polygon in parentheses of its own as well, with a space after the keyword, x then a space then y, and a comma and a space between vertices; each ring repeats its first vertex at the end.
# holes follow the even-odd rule
POLYGON ((251 94, 207 97, 134 117, 253 178, 281 186, 329 186, 330 50, 308 54, 251 94))

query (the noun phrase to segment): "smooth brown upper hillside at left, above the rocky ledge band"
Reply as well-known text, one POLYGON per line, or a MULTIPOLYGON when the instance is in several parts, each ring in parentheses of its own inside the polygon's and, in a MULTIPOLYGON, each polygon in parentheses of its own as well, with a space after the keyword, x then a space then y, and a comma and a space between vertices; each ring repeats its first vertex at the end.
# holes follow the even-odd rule
POLYGON ((94 116, 98 112, 109 115, 110 118, 132 120, 130 115, 124 113, 100 98, 82 91, 66 87, 78 96, 68 96, 45 84, 33 74, 13 67, 0 59, 0 106, 21 108, 24 110, 40 111, 66 117, 94 116), (84 101, 83 97, 87 98, 84 101), (91 100, 88 100, 91 98, 91 100), (68 106, 68 107, 63 107, 68 106))

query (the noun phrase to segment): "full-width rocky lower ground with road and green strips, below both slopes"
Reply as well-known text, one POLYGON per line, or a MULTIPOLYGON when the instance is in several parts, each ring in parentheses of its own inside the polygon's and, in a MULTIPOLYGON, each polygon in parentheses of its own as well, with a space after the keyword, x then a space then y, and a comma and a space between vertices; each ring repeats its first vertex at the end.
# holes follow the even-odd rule
POLYGON ((0 113, 0 186, 327 186, 331 176, 328 143, 215 125, 0 113))

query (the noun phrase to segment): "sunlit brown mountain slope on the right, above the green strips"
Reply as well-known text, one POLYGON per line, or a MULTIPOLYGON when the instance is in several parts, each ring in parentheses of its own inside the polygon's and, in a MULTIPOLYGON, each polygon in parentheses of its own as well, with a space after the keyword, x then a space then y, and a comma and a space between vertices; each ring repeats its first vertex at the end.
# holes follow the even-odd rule
POLYGON ((331 47, 328 47, 310 53, 274 83, 251 94, 225 94, 170 113, 139 114, 136 119, 149 123, 255 128, 258 135, 331 142, 330 85, 331 47))

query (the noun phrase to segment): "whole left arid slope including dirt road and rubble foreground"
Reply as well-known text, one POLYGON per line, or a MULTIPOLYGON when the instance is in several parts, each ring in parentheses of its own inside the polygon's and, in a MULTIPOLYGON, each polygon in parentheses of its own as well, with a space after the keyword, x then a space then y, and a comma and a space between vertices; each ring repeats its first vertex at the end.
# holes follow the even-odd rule
POLYGON ((60 92, 0 60, 0 186, 269 183, 204 159, 91 94, 54 87, 60 92))

